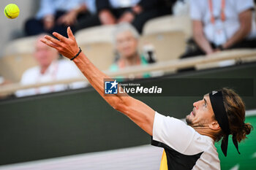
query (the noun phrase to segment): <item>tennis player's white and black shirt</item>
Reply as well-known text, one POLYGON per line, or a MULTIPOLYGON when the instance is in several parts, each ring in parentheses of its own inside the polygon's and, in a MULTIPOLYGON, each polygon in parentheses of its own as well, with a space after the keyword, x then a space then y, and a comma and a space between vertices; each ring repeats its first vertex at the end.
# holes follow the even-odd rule
POLYGON ((173 117, 155 113, 152 144, 163 147, 170 169, 220 169, 214 139, 173 117))

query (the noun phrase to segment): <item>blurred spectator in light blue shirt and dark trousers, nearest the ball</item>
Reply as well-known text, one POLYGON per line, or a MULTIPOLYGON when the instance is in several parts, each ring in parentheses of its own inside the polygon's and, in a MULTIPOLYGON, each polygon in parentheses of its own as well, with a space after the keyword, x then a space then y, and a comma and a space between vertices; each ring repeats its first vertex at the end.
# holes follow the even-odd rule
POLYGON ((26 34, 32 36, 56 31, 67 36, 67 26, 74 26, 79 18, 91 12, 89 10, 95 12, 96 9, 93 9, 91 4, 87 6, 85 2, 85 0, 41 0, 36 18, 26 21, 26 34))

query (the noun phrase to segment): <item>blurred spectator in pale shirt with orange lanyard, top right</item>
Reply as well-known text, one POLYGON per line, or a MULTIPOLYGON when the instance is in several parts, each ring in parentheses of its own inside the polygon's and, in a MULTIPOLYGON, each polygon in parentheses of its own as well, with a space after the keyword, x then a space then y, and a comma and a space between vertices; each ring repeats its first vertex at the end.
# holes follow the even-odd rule
POLYGON ((253 0, 191 0, 192 50, 181 58, 256 47, 253 0))

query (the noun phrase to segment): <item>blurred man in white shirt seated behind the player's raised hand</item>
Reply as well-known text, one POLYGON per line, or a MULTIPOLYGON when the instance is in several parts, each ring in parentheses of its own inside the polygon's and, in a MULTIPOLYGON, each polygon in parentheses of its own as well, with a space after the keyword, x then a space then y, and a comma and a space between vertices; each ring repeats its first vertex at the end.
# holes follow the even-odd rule
MULTIPOLYGON (((23 73, 20 85, 34 85, 40 82, 79 78, 80 72, 74 63, 70 63, 64 59, 58 60, 59 53, 55 49, 40 42, 39 39, 42 37, 41 35, 37 38, 34 52, 34 58, 39 66, 26 70, 26 72, 23 73)), ((18 97, 31 96, 67 90, 68 88, 83 88, 86 85, 86 82, 75 82, 71 85, 50 85, 40 88, 18 90, 15 95, 18 97)))

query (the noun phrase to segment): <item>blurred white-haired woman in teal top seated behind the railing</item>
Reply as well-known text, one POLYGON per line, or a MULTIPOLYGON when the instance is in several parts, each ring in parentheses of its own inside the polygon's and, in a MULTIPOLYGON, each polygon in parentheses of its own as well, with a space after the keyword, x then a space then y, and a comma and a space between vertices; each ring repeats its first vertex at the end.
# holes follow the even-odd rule
MULTIPOLYGON (((118 55, 117 61, 110 66, 110 71, 118 70, 129 66, 145 66, 148 61, 138 52, 139 34, 129 23, 121 23, 114 31, 114 44, 118 55)), ((149 77, 149 74, 143 74, 140 77, 149 77)))

